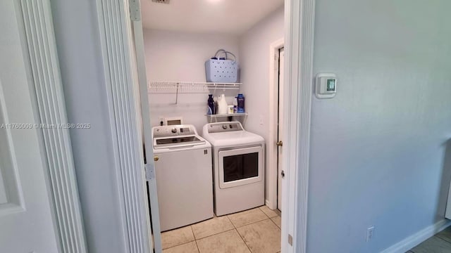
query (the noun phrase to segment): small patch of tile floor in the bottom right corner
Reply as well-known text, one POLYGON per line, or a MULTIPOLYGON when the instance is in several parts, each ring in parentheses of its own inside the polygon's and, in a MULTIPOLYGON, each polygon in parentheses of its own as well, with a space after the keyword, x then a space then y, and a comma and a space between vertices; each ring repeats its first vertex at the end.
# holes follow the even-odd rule
POLYGON ((433 237, 421 242, 406 253, 450 253, 451 252, 451 227, 446 228, 433 237))

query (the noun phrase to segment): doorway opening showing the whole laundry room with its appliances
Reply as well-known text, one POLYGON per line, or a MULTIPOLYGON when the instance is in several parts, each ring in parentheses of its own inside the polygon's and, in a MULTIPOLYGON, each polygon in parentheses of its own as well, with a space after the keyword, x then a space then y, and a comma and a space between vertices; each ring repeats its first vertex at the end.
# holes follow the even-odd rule
MULTIPOLYGON (((233 245, 236 251, 279 252, 278 171, 277 165, 269 164, 266 151, 273 143, 265 141, 271 138, 269 130, 274 123, 273 115, 277 122, 278 111, 273 111, 267 101, 272 82, 266 71, 268 65, 273 64, 267 57, 268 46, 285 34, 284 1, 249 1, 240 6, 230 1, 202 3, 201 6, 197 6, 199 1, 186 2, 190 3, 141 2, 156 197, 163 231, 161 249, 215 252, 218 247, 233 245), (187 8, 192 12, 187 12, 187 8), (222 17, 221 8, 239 8, 240 11, 234 11, 233 18, 232 13, 222 17), (252 15, 249 16, 246 9, 252 10, 252 15), (199 17, 203 17, 202 22, 197 22, 199 17), (236 80, 211 82, 204 63, 214 56, 217 59, 213 61, 230 60, 232 66, 239 65, 236 80), (207 112, 209 94, 221 96, 217 102, 225 100, 223 103, 229 105, 228 110, 210 115, 207 112), (240 106, 240 101, 244 101, 240 94, 245 97, 244 108, 240 106), (244 110, 236 112, 234 105, 244 110), (178 118, 183 125, 168 124, 168 118, 178 118), (236 137, 237 133, 241 137, 236 137), (187 140, 185 134, 194 136, 192 141, 187 140), (218 134, 227 135, 224 139, 231 144, 221 144, 218 134), (242 138, 244 135, 248 137, 242 138), (183 153, 187 143, 199 148, 183 153), (206 143, 211 143, 211 148, 201 147, 206 143), (166 149, 171 155, 163 154, 162 150, 166 149), (205 175, 206 170, 179 177, 181 173, 176 171, 165 174, 163 171, 168 172, 168 169, 162 167, 194 171, 206 162, 205 157, 210 157, 211 162, 204 167, 209 167, 211 173, 209 190, 213 200, 205 197, 201 202, 202 205, 210 202, 214 212, 209 217, 194 219, 194 214, 199 212, 194 212, 192 203, 184 200, 197 201, 194 198, 198 194, 190 193, 194 188, 190 183, 196 182, 195 186, 199 186, 197 193, 205 193, 206 188, 200 186, 206 181, 199 181, 200 177, 195 174, 205 175), (203 162, 199 162, 201 160, 203 162), (161 176, 165 176, 164 179, 161 176), (190 180, 183 180, 188 176, 190 180), (192 219, 182 221, 185 218, 192 219), (180 222, 169 224, 175 220, 180 222), (255 234, 267 236, 256 237, 255 234)), ((222 72, 227 75, 228 70, 222 72)), ((276 78, 279 79, 278 75, 276 78)), ((220 109, 221 106, 215 108, 220 109)), ((152 190, 149 192, 152 195, 152 190)), ((200 206, 201 202, 196 202, 195 206, 200 206)), ((205 206, 202 211, 208 208, 205 206)), ((157 244, 155 242, 156 247, 157 244)))

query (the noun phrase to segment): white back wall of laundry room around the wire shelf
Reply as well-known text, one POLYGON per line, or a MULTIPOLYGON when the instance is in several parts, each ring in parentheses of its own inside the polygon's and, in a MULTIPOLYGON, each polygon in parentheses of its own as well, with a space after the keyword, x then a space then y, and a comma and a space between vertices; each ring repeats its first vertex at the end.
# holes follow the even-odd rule
MULTIPOLYGON (((203 34, 144 30, 147 79, 149 81, 205 82, 206 60, 220 48, 238 56, 238 38, 230 34, 203 34)), ((239 59, 237 59, 239 60, 239 59)), ((237 91, 216 90, 215 96, 225 93, 229 104, 237 91)), ((207 123, 208 93, 181 93, 175 105, 175 93, 150 93, 152 126, 159 125, 159 116, 183 116, 185 124, 194 124, 199 134, 207 123)))

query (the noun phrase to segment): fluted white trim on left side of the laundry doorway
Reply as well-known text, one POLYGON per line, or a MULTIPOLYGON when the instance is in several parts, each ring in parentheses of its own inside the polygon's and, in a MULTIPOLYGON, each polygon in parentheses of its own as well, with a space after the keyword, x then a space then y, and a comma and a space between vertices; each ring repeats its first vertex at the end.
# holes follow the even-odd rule
POLYGON ((114 146, 117 184, 121 196, 121 222, 125 249, 121 252, 150 252, 142 135, 137 112, 138 93, 135 60, 130 39, 127 0, 97 0, 109 116, 114 146))

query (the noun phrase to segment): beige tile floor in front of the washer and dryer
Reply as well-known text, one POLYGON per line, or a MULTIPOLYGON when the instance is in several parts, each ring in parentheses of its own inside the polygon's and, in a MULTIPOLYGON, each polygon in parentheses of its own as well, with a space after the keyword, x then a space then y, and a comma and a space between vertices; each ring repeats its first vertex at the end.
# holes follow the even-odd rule
POLYGON ((280 215, 266 206, 161 233, 164 253, 277 253, 280 215))

